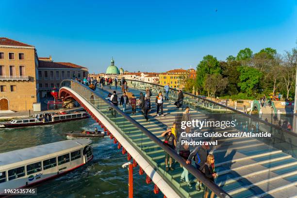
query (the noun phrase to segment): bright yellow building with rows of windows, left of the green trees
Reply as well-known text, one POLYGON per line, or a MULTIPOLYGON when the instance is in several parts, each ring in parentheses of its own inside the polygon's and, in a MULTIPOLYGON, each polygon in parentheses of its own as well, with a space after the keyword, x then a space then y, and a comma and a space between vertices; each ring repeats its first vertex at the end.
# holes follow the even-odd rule
POLYGON ((187 74, 187 70, 185 69, 173 69, 165 73, 160 73, 159 84, 165 86, 166 84, 169 83, 169 86, 171 88, 182 89, 183 88, 182 80, 186 74, 187 74))

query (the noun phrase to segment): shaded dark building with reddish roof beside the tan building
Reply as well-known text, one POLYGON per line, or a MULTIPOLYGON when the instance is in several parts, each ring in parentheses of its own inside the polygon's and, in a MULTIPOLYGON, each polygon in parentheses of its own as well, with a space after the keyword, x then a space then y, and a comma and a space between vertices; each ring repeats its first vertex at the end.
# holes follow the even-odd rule
POLYGON ((88 69, 73 63, 53 62, 51 57, 39 58, 38 87, 40 97, 49 97, 50 91, 60 88, 65 79, 83 79, 88 76, 88 69))

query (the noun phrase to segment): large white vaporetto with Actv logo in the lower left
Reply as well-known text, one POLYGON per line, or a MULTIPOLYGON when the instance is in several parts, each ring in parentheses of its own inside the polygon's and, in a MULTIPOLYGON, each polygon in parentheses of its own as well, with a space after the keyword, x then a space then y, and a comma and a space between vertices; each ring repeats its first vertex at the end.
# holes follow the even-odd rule
POLYGON ((0 195, 65 174, 93 159, 92 141, 75 139, 0 153, 0 195))

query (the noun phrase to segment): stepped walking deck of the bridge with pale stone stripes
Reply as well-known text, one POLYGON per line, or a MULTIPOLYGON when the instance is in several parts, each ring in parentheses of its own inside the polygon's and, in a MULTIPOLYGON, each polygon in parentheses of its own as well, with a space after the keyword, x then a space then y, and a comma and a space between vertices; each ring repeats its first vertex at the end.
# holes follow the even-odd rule
MULTIPOLYGON (((103 97, 107 97, 108 92, 112 93, 115 89, 97 89, 96 92, 103 97)), ((116 90, 120 93, 120 89, 116 90)), ((138 98, 140 90, 130 89, 138 98)), ((119 95, 120 96, 120 95, 119 95)), ((131 108, 126 110, 127 114, 139 122, 142 126, 162 139, 161 134, 176 119, 176 115, 181 114, 181 109, 173 105, 173 101, 164 100, 165 116, 156 115, 156 105, 154 97, 151 97, 151 111, 149 112, 148 122, 137 109, 136 115, 132 115, 131 108)), ((108 106, 106 106, 108 111, 108 106)), ((190 110, 192 119, 205 119, 208 116, 195 109, 190 110)), ((186 183, 180 182, 182 168, 178 163, 173 167, 174 171, 165 171, 165 152, 159 148, 148 137, 144 136, 132 124, 123 122, 121 117, 110 119, 125 133, 133 144, 139 147, 152 163, 159 167, 159 170, 185 197, 198 198, 202 196, 202 190, 195 190, 196 179, 189 175, 192 182, 192 189, 186 183)), ((220 128, 202 129, 213 132, 225 132, 220 128)), ((237 129, 228 132, 238 132, 237 129)), ((212 148, 211 153, 215 156, 215 170, 218 173, 216 183, 227 191, 234 198, 247 197, 291 197, 297 194, 297 159, 272 148, 254 138, 218 138, 218 147, 212 148)))

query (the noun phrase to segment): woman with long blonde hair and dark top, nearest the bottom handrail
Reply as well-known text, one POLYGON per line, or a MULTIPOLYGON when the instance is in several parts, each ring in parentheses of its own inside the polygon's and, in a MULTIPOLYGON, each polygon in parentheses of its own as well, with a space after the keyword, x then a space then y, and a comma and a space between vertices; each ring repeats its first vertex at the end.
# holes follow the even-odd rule
MULTIPOLYGON (((214 182, 214 179, 217 178, 217 174, 214 170, 214 155, 209 154, 207 156, 206 163, 201 167, 201 172, 204 173, 204 175, 214 182)), ((208 198, 209 193, 211 192, 211 198, 214 198, 214 192, 211 191, 209 188, 206 187, 205 189, 205 196, 204 198, 208 198)))

